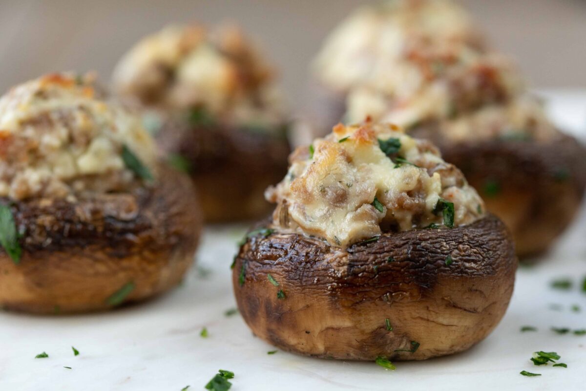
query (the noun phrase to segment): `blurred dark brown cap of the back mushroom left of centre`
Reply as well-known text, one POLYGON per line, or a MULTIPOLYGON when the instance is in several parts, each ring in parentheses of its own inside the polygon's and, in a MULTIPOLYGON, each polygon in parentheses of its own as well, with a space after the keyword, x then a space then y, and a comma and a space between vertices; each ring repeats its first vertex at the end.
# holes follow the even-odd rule
POLYGON ((190 162, 206 222, 259 219, 271 212, 264 191, 287 174, 285 134, 169 121, 157 138, 163 151, 190 162))

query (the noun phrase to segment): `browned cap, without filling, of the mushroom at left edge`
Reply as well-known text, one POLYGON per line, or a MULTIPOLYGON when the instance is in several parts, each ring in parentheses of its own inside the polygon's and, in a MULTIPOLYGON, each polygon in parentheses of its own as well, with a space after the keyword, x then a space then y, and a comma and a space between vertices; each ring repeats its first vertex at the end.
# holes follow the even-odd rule
MULTIPOLYGON (((202 219, 186 175, 93 199, 34 200, 11 206, 25 230, 19 264, 0 252, 0 305, 38 313, 98 311, 129 283, 124 302, 178 284, 193 261, 202 219)), ((7 203, 3 200, 3 203, 7 203)))

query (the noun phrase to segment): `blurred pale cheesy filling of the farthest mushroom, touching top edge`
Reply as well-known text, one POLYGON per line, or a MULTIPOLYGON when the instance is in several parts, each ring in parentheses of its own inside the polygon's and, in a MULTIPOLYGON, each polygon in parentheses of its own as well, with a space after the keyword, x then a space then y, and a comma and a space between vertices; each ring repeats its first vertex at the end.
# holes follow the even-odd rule
POLYGON ((321 83, 340 93, 382 83, 381 89, 405 95, 432 72, 422 74, 406 57, 414 63, 427 58, 454 62, 483 46, 466 12, 450 1, 387 1, 363 6, 342 22, 326 40, 314 71, 321 83), (453 57, 454 52, 460 55, 453 57))

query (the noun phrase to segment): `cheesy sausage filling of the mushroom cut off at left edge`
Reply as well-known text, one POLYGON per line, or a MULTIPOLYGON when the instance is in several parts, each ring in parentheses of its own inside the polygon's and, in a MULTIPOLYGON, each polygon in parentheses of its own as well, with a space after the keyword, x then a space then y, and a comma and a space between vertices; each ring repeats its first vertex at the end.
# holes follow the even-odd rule
POLYGON ((140 118, 98 97, 92 81, 50 74, 0 98, 0 196, 123 191, 137 181, 124 145, 155 174, 154 141, 140 118))

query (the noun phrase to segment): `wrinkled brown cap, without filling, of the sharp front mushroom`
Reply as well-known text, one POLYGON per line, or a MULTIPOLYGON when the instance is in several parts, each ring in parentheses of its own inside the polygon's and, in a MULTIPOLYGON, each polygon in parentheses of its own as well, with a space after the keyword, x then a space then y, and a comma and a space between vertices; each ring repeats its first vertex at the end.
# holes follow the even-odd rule
POLYGON ((496 327, 516 261, 505 225, 492 215, 454 229, 385 233, 347 250, 276 230, 241 247, 233 285, 248 326, 280 349, 422 360, 464 351, 496 327), (420 344, 414 352, 411 341, 420 344))

